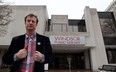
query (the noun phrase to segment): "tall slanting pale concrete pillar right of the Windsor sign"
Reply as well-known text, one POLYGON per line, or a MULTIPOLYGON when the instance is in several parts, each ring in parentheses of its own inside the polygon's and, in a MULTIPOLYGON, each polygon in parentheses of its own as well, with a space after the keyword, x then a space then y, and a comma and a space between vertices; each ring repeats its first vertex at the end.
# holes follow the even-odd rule
MULTIPOLYGON (((96 9, 85 8, 85 20, 87 25, 87 31, 90 36, 87 42, 95 45, 90 49, 90 58, 92 70, 98 70, 98 67, 103 64, 108 64, 102 32, 100 28, 99 18, 96 9), (92 43, 93 42, 93 43, 92 43)), ((92 46, 92 45, 91 45, 92 46)))

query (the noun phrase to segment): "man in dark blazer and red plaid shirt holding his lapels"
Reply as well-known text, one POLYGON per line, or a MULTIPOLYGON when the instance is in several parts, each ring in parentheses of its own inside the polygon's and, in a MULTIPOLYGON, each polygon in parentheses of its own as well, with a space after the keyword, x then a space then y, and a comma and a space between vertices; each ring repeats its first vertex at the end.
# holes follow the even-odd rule
POLYGON ((13 37, 2 62, 12 65, 10 72, 44 72, 44 64, 53 62, 49 38, 36 33, 38 18, 25 17, 26 34, 13 37))

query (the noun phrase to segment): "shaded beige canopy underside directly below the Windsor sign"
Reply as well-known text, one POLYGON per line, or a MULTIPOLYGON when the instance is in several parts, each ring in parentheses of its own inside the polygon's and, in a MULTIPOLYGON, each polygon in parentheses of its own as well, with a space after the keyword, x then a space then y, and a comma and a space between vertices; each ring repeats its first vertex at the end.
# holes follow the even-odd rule
POLYGON ((52 48, 55 53, 79 53, 90 47, 78 44, 52 44, 52 48))

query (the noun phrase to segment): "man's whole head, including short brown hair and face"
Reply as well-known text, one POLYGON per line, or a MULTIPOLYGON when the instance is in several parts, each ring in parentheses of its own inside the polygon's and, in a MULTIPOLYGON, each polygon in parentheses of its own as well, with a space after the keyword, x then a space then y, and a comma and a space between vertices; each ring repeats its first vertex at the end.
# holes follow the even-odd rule
POLYGON ((28 14, 25 17, 25 26, 26 26, 26 30, 28 32, 33 32, 35 31, 36 27, 38 24, 38 18, 36 15, 34 14, 28 14))

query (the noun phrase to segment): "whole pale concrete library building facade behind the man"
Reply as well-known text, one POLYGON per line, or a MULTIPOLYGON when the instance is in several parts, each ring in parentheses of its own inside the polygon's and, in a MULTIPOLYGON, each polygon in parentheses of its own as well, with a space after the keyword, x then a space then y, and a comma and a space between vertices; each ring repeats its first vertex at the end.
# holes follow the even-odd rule
POLYGON ((50 38, 55 59, 49 69, 98 70, 103 64, 116 63, 115 11, 98 12, 86 6, 82 19, 68 19, 68 15, 52 15, 49 19, 46 6, 10 8, 12 22, 0 37, 1 66, 12 37, 25 33, 24 17, 28 13, 39 18, 37 32, 50 38))

